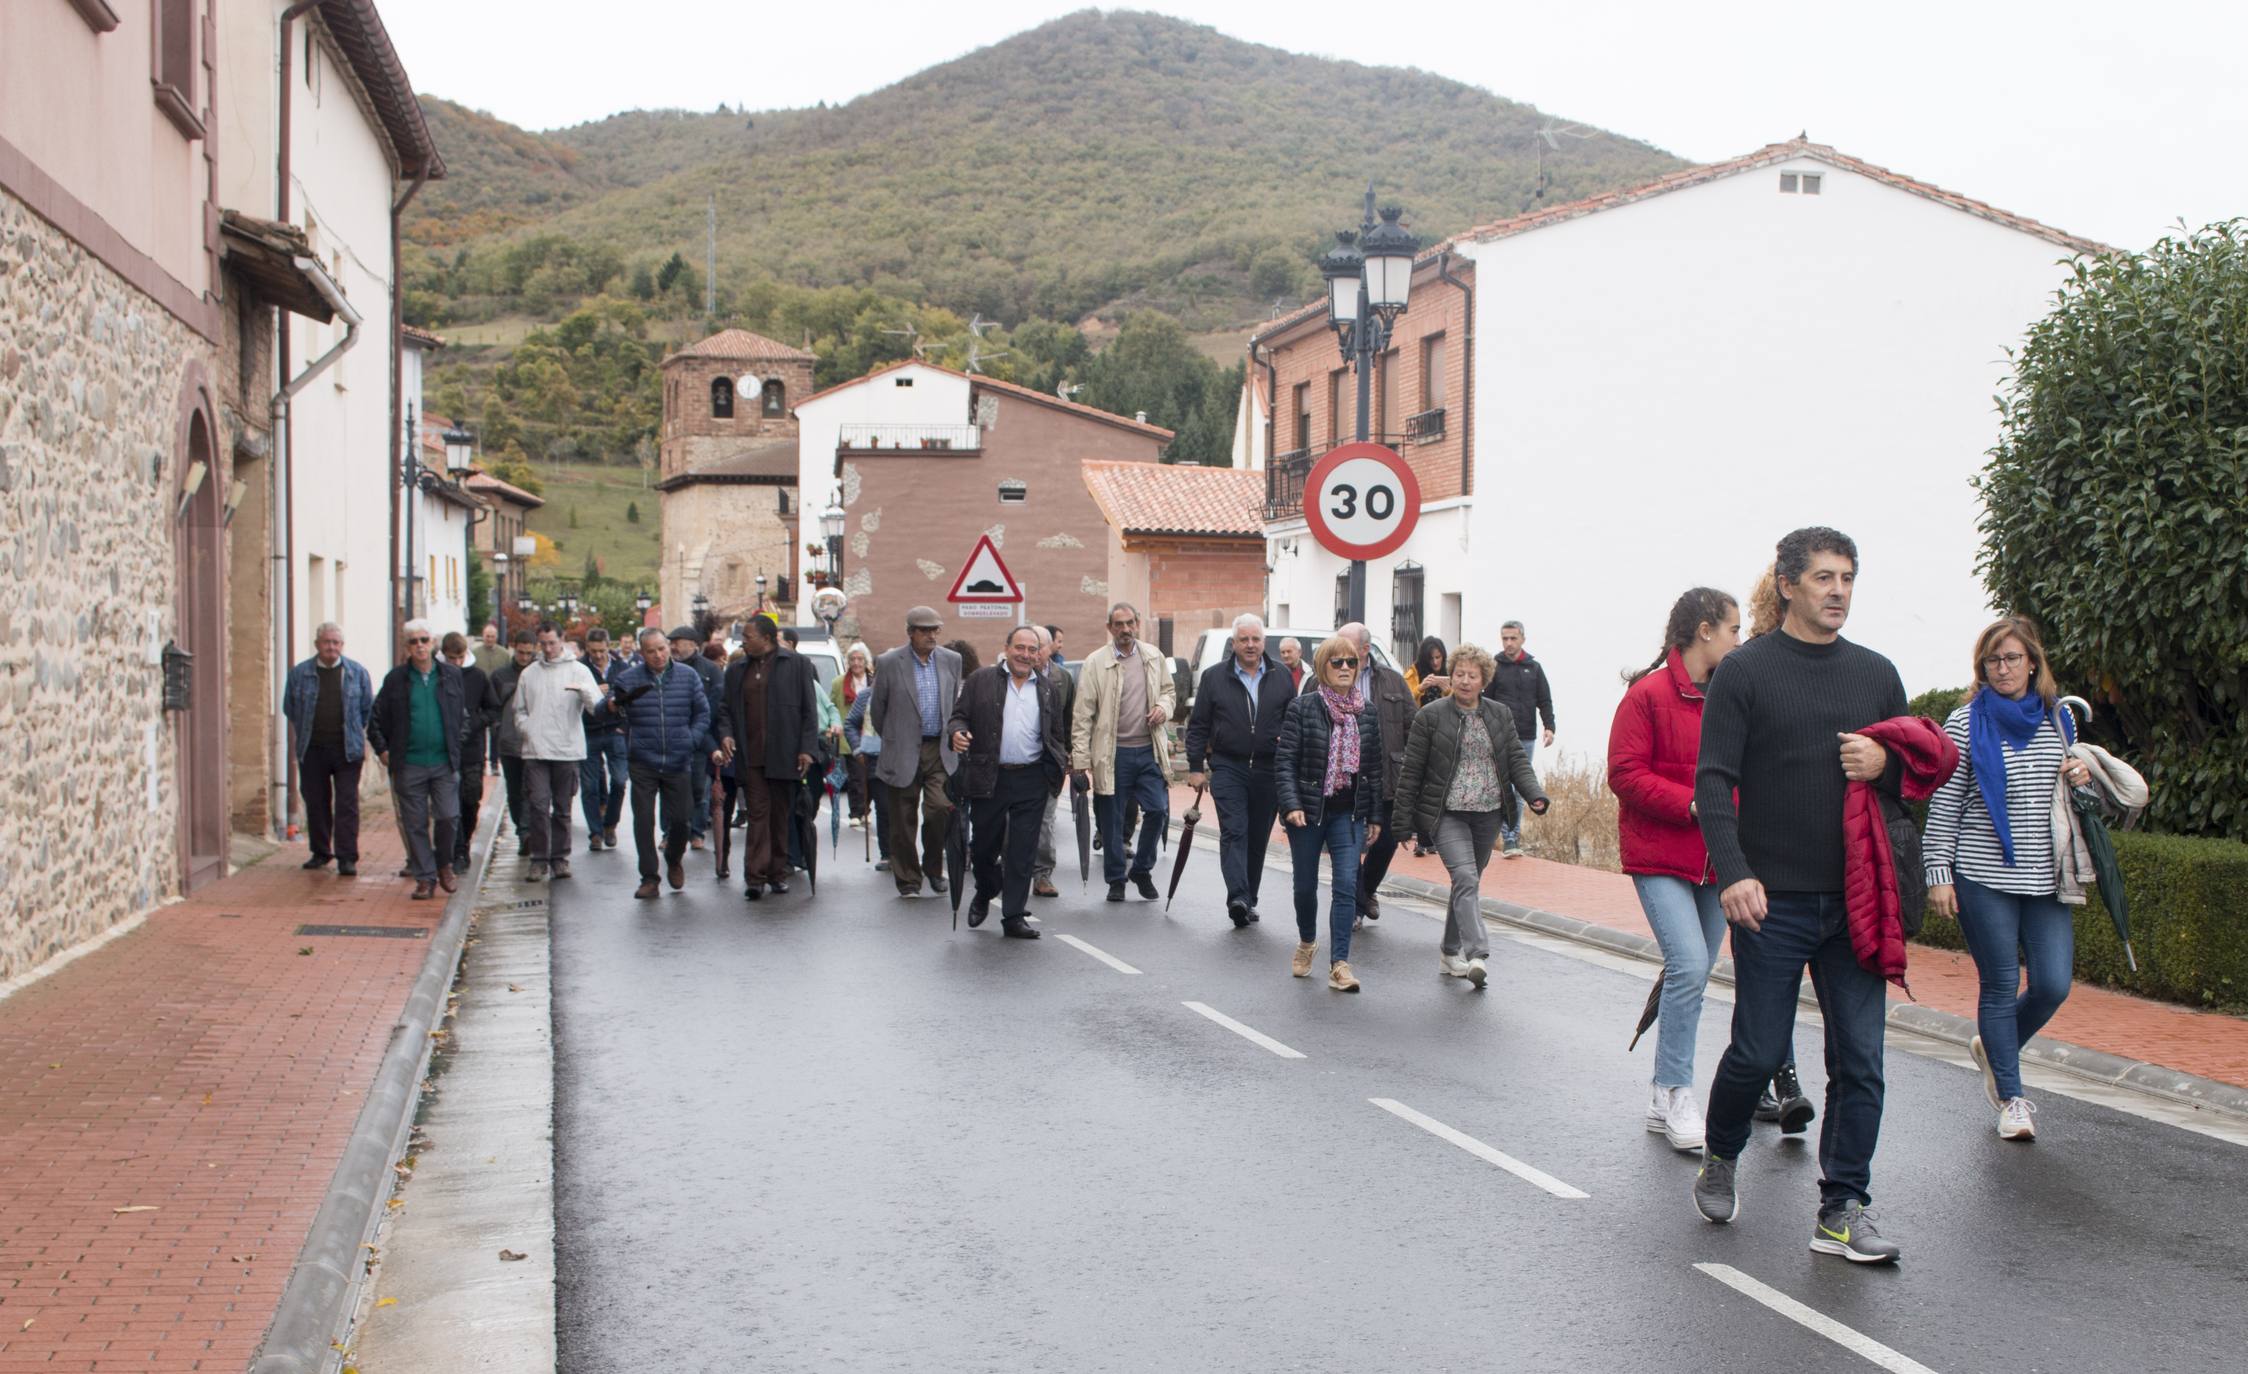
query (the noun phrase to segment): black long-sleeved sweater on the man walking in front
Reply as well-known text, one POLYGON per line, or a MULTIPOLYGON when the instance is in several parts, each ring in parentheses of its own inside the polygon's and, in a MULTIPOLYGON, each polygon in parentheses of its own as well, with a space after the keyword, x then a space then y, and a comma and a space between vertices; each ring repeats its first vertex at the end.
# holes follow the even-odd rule
MULTIPOLYGON (((1774 630, 1726 654, 1702 706, 1693 789, 1717 882, 1839 893, 1848 778, 1837 735, 1895 715, 1904 715, 1897 666, 1848 639, 1807 643, 1774 630)), ((1897 776, 1891 756, 1879 787, 1895 794, 1897 776)))

